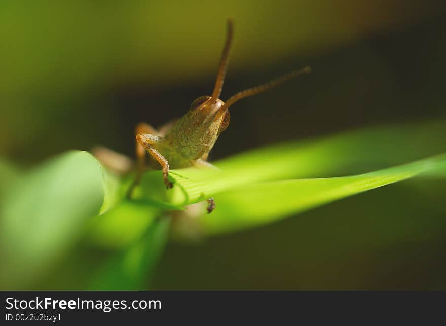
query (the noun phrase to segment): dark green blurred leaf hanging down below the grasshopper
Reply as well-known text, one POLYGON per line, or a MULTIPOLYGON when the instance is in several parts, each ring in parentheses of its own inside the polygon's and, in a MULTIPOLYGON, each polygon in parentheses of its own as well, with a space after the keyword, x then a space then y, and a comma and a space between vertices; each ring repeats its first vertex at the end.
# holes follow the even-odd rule
MULTIPOLYGON (((122 217, 122 216, 121 216, 122 217)), ((167 242, 170 220, 158 219, 144 236, 117 253, 97 272, 90 288, 95 290, 132 290, 145 288, 167 242)))

